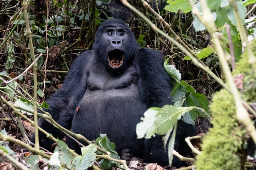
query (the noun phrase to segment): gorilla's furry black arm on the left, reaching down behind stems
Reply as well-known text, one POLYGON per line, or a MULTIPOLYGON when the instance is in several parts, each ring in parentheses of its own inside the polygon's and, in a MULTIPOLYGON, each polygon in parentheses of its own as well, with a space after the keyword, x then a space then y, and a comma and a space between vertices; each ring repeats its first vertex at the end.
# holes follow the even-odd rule
MULTIPOLYGON (((71 128, 72 119, 76 111, 77 104, 80 102, 83 97, 86 87, 87 87, 87 71, 86 63, 91 51, 82 53, 79 57, 76 58, 74 63, 70 68, 62 87, 53 94, 47 104, 50 106, 48 109, 44 109, 46 112, 49 112, 53 119, 63 126, 66 129, 71 128)), ((40 118, 39 126, 51 133, 55 138, 62 139, 65 134, 54 128, 53 125, 49 124, 46 120, 40 118)), ((31 139, 34 142, 34 136, 31 139)), ((40 146, 49 149, 52 140, 46 138, 46 136, 39 132, 39 142, 40 146)))

